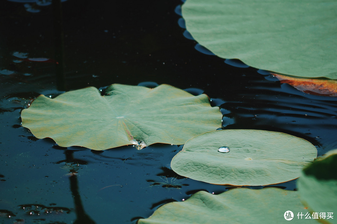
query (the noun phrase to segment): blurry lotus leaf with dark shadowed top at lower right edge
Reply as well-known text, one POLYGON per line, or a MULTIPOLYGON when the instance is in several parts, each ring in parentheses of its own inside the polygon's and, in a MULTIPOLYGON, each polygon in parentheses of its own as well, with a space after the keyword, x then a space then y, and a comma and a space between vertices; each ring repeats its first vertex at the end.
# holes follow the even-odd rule
POLYGON ((298 180, 298 189, 304 203, 310 210, 325 215, 334 213, 334 219, 328 217, 328 223, 337 223, 337 151, 328 152, 302 171, 298 180))

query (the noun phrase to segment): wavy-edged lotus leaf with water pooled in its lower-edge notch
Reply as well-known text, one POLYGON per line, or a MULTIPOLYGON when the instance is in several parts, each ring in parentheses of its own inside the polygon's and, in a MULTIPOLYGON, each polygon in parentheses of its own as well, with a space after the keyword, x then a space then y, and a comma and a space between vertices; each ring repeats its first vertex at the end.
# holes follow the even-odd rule
POLYGON ((94 87, 37 97, 21 113, 22 126, 60 146, 103 150, 161 142, 184 144, 221 127, 222 114, 205 94, 193 96, 169 85, 154 89, 114 84, 101 96, 94 87), (142 141, 142 142, 141 142, 142 141))

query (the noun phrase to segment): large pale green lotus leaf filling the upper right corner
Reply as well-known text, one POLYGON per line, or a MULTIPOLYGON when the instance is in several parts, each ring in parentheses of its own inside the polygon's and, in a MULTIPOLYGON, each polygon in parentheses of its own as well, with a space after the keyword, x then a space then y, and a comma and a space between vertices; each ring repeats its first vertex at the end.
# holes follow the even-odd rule
POLYGON ((337 79, 337 1, 187 0, 193 38, 222 58, 301 77, 337 79))

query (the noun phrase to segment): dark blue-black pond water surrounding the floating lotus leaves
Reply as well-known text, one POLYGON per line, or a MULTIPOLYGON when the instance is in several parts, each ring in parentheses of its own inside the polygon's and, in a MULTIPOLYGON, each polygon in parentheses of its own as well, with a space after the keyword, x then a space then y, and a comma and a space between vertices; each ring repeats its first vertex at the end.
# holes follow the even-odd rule
MULTIPOLYGON (((337 148, 336 98, 304 94, 255 68, 201 53, 176 13, 181 1, 68 0, 63 28, 54 26, 60 11, 53 13, 48 2, 1 2, 0 223, 135 223, 199 190, 230 188, 170 170, 182 146, 97 152, 36 139, 21 127, 21 110, 61 88, 170 84, 208 94, 221 108, 223 129, 295 135, 313 143, 318 155, 337 148)), ((276 186, 294 190, 296 180, 276 186)))

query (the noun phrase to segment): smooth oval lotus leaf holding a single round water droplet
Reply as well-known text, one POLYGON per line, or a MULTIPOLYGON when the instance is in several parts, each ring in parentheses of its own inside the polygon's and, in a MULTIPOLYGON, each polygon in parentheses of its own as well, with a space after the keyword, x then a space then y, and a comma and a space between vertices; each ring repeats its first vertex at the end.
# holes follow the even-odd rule
POLYGON ((262 130, 219 130, 188 140, 172 159, 181 176, 212 184, 268 185, 298 178, 317 156, 310 142, 262 130), (222 153, 219 147, 230 151, 222 153))

